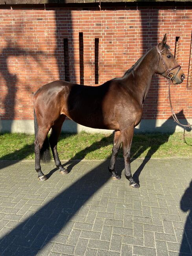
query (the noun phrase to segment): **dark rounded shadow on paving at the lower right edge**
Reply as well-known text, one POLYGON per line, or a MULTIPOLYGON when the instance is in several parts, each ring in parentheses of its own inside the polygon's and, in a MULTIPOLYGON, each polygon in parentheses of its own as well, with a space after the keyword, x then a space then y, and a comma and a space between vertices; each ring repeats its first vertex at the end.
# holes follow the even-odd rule
POLYGON ((181 210, 188 212, 183 232, 183 239, 179 250, 179 256, 192 254, 192 181, 189 187, 185 190, 180 202, 181 210))

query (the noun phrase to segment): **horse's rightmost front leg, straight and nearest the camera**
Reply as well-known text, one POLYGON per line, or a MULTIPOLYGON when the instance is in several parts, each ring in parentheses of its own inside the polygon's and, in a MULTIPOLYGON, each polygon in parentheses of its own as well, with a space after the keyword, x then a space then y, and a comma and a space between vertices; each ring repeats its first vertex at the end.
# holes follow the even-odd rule
POLYGON ((134 134, 134 125, 129 126, 125 130, 121 131, 122 134, 122 145, 123 145, 123 156, 125 160, 125 176, 129 180, 129 185, 131 187, 138 188, 139 185, 133 180, 131 174, 131 165, 130 165, 130 153, 131 153, 131 143, 134 134))

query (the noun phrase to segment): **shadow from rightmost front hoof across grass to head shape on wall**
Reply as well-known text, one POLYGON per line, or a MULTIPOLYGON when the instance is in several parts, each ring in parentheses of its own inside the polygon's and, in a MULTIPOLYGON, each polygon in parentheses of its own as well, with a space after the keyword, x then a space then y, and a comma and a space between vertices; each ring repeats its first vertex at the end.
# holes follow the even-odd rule
MULTIPOLYGON (((183 109, 177 113, 178 117, 182 117, 182 124, 188 124, 185 115, 183 114, 183 109)), ((141 171, 143 170, 144 166, 146 165, 146 163, 148 163, 148 161, 150 160, 151 156, 159 149, 159 147, 161 147, 161 145, 163 145, 164 143, 166 143, 170 137, 170 135, 174 134, 175 129, 177 126, 180 126, 179 124, 177 124, 176 122, 173 121, 172 116, 170 116, 163 124, 161 127, 157 127, 155 128, 155 132, 157 133, 155 136, 155 144, 154 141, 152 141, 152 143, 150 143, 150 145, 144 145, 142 147, 140 147, 140 149, 138 151, 136 151, 134 157, 138 158, 145 150, 148 149, 148 147, 150 147, 150 149, 148 150, 144 160, 142 161, 141 165, 138 167, 137 171, 133 174, 133 179, 139 184, 139 175, 141 173, 141 171), (161 130, 166 130, 167 127, 170 126, 170 121, 172 123, 172 127, 171 127, 171 132, 170 133, 165 133, 165 134, 160 134, 159 132, 161 130), (160 137, 160 139, 159 139, 160 137)), ((182 127, 182 126, 181 126, 182 127)), ((182 127, 184 130, 184 134, 185 134, 185 130, 186 131, 190 131, 191 128, 190 127, 182 127)))

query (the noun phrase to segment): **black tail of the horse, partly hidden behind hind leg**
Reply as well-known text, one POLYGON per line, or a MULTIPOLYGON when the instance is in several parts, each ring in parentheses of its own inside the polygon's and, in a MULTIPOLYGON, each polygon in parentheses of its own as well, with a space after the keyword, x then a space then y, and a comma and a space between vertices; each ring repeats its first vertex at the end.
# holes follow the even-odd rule
MULTIPOLYGON (((38 124, 37 124, 37 117, 34 109, 34 128, 35 128, 35 139, 37 137, 37 132, 38 132, 38 124)), ((42 145, 42 148, 40 150, 40 159, 44 163, 48 163, 51 161, 51 152, 50 152, 50 145, 48 141, 48 137, 44 140, 44 143, 42 145)))

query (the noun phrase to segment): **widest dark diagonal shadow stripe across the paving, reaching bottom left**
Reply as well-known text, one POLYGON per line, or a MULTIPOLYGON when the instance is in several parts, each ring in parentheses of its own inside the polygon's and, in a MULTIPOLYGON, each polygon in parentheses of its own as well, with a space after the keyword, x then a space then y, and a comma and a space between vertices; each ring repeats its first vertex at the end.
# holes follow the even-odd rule
MULTIPOLYGON (((72 217, 111 178, 108 165, 106 160, 83 176, 79 173, 76 182, 0 239, 0 254, 33 256, 56 235, 68 236, 74 225, 72 217)), ((65 182, 65 176, 62 178, 65 182)))

